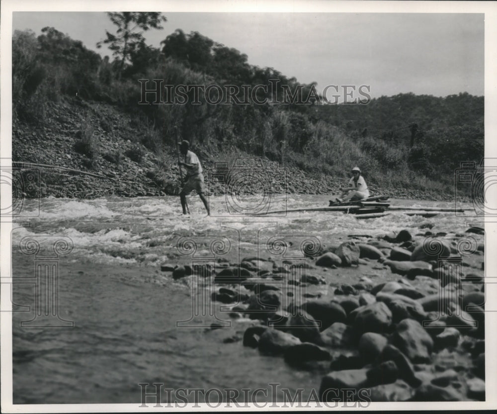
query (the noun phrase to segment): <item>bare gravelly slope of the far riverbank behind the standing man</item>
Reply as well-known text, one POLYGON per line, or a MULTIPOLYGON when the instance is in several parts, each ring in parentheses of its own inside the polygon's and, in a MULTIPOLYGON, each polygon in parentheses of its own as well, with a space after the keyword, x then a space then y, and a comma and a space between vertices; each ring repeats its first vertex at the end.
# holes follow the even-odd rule
MULTIPOLYGON (((16 191, 27 197, 83 199, 178 194, 175 148, 158 144, 163 138, 155 136, 145 121, 137 122, 116 106, 77 98, 47 105, 45 118, 36 124, 13 121, 12 159, 27 163, 17 164, 23 168, 19 182, 24 185, 16 191), (34 181, 30 181, 33 177, 34 181)), ((175 142, 175 137, 164 140, 175 142)), ((333 195, 345 181, 294 166, 282 167, 235 148, 223 148, 217 153, 202 148, 194 146, 193 150, 202 162, 207 189, 213 195, 227 191, 333 195), (219 162, 227 163, 228 168, 219 162)), ((453 199, 449 193, 432 190, 385 190, 371 183, 369 187, 372 194, 395 198, 453 199)))

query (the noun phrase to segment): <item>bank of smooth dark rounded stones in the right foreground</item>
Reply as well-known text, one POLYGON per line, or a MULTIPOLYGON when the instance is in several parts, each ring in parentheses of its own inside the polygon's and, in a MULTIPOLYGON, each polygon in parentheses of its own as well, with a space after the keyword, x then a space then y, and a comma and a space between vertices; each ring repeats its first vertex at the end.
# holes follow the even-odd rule
MULTIPOLYGON (((320 401, 484 401, 483 230, 432 227, 310 242, 283 266, 218 260, 193 277, 232 307, 232 327, 211 325, 220 342, 312 372, 320 401)), ((186 263, 162 270, 192 275, 186 263)))

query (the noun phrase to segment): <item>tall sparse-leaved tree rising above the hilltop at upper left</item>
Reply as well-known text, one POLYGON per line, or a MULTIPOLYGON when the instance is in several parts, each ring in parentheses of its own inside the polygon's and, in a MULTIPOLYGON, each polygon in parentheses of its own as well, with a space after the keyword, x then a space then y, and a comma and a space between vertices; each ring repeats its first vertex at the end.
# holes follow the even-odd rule
POLYGON ((117 26, 116 34, 105 30, 107 38, 99 41, 96 46, 100 48, 102 44, 108 44, 113 56, 119 58, 118 78, 120 78, 124 65, 130 60, 131 54, 140 45, 143 45, 145 41, 143 32, 149 29, 163 29, 161 22, 167 21, 167 19, 160 12, 123 11, 108 12, 107 15, 117 26))

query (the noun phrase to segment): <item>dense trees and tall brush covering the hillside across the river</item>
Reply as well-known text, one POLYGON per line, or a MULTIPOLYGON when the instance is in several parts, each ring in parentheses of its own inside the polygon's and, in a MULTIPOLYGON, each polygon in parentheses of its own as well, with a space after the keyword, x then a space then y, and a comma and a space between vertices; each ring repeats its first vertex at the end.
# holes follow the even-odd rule
MULTIPOLYGON (((129 24, 135 19, 142 31, 159 29, 162 16, 112 16, 120 31, 107 32, 104 42, 114 44, 113 62, 53 27, 38 37, 31 31, 14 33, 14 123, 42 123, 48 102, 77 96, 133 113, 149 131, 142 143, 152 150, 174 144, 179 131, 181 138, 214 157, 244 150, 340 179, 359 165, 369 182, 385 188, 432 183, 450 188, 461 161, 479 163, 484 156, 483 97, 399 94, 368 104, 274 104, 271 91, 282 96, 285 88, 300 88, 307 97, 315 84, 299 84, 273 68, 250 65, 247 55, 198 32, 178 29, 155 48, 141 32, 132 35, 129 24), (126 30, 129 38, 122 37, 126 30), (254 104, 250 97, 248 104, 211 105, 200 95, 200 104, 194 104, 190 91, 185 104, 139 105, 139 79, 162 79, 174 86, 265 85, 267 92, 259 89, 255 98, 268 100, 254 104)), ((236 95, 243 101, 241 91, 236 95)))

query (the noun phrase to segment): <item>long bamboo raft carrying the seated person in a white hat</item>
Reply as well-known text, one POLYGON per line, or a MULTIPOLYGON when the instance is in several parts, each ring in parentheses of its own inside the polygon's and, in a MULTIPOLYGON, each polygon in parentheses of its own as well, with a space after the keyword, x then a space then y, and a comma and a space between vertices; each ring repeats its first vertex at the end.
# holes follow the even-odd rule
POLYGON ((462 208, 450 207, 412 207, 412 206, 390 206, 388 196, 369 197, 360 201, 333 203, 330 200, 329 207, 315 208, 295 208, 286 210, 275 210, 254 213, 252 215, 281 214, 288 212, 307 211, 340 211, 345 214, 354 214, 356 218, 377 218, 384 217, 392 212, 402 212, 406 215, 421 215, 423 217, 433 217, 444 212, 464 212, 462 208))

